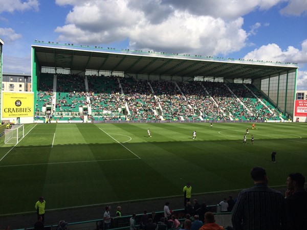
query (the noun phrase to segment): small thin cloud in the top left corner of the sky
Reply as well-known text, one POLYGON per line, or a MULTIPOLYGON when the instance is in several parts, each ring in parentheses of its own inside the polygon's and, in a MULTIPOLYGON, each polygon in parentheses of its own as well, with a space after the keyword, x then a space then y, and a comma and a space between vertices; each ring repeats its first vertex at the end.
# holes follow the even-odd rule
POLYGON ((26 10, 38 10, 39 2, 38 0, 0 0, 0 13, 2 12, 10 12, 14 11, 26 11, 26 10))

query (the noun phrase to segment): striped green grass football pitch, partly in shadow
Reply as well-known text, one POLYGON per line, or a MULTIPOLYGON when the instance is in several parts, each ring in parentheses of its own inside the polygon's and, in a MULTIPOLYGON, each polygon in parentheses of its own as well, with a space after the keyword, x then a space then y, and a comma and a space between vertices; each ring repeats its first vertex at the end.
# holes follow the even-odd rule
POLYGON ((255 166, 267 170, 269 186, 285 185, 290 172, 307 176, 307 124, 256 123, 256 128, 251 123, 27 124, 18 145, 0 141, 0 215, 33 212, 39 196, 51 210, 183 195, 187 181, 193 194, 240 190, 252 186, 249 172, 255 166))

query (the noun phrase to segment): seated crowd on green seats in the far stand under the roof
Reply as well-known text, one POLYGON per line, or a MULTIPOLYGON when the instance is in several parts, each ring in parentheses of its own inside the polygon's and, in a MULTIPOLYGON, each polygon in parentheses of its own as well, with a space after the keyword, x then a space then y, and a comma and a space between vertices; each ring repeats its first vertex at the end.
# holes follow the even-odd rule
MULTIPOLYGON (((176 84, 170 81, 58 74, 57 92, 53 93, 52 76, 43 75, 46 81, 40 81, 35 118, 42 116, 42 107, 51 105, 48 115, 56 119, 82 119, 87 115, 92 116, 89 120, 278 119, 270 110, 274 107, 256 90, 252 93, 243 84, 225 85, 208 81, 176 84), (86 81, 88 90, 85 89, 86 81), (55 104, 53 97, 56 97, 55 104), (91 107, 90 114, 88 107, 91 107), (76 116, 76 113, 81 114, 76 116)), ((46 116, 46 112, 43 115, 46 116)))

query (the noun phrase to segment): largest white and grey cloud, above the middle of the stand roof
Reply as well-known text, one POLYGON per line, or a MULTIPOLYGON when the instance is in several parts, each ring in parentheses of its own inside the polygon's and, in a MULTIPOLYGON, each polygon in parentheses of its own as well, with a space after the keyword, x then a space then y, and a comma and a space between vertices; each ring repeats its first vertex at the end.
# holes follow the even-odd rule
POLYGON ((244 15, 288 1, 56 0, 72 10, 55 32, 64 42, 100 45, 128 40, 129 48, 136 50, 227 55, 252 44, 248 37, 270 25, 255 22, 247 32, 242 28, 244 15))

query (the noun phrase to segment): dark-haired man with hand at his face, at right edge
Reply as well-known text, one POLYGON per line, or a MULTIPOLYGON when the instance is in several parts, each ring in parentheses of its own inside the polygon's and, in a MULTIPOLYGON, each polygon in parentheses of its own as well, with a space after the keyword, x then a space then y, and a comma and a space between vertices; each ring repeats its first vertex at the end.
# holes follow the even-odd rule
POLYGON ((289 207, 291 225, 295 230, 307 229, 307 192, 305 177, 301 173, 290 173, 287 178, 285 197, 289 207))

